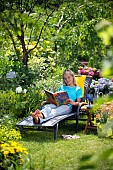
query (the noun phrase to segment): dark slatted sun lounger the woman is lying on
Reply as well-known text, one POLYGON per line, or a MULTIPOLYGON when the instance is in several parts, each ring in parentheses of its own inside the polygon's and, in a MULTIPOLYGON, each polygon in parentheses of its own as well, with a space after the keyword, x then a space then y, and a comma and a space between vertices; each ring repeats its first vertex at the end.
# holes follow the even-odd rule
MULTIPOLYGON (((92 81, 92 78, 86 78, 84 87, 85 87, 85 92, 87 92, 89 85, 92 81)), ((86 96, 86 94, 85 94, 86 96)), ((65 114, 65 115, 61 115, 61 116, 56 116, 50 120, 47 120, 43 123, 40 124, 36 124, 33 122, 33 118, 31 116, 24 118, 23 120, 19 121, 16 125, 20 128, 20 131, 24 131, 24 130, 37 130, 37 131, 52 131, 54 133, 54 140, 57 139, 57 132, 58 132, 58 128, 59 128, 59 123, 61 121, 65 121, 66 119, 71 119, 71 120, 75 120, 75 132, 78 132, 78 121, 79 121, 79 115, 81 114, 80 112, 80 108, 81 106, 84 105, 81 104, 80 106, 78 106, 78 108, 73 111, 70 114, 65 114)))

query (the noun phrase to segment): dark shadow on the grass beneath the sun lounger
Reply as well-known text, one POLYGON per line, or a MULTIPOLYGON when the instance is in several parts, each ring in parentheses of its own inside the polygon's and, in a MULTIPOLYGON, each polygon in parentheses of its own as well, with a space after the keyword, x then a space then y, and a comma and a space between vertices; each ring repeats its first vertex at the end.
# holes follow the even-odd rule
MULTIPOLYGON (((79 134, 83 134, 84 133, 84 128, 85 128, 85 122, 79 122, 79 131, 78 131, 78 135, 79 134)), ((88 132, 86 133, 94 133, 94 131, 90 131, 88 130, 88 132)), ((44 143, 44 142, 57 142, 59 140, 62 140, 62 134, 66 134, 66 135, 74 135, 76 134, 76 124, 74 120, 66 120, 66 121, 62 121, 59 123, 59 129, 57 132, 57 139, 54 140, 54 133, 53 131, 48 132, 48 131, 38 131, 35 130, 33 131, 31 130, 25 130, 22 133, 22 140, 23 141, 32 141, 32 142, 39 142, 39 143, 44 143)))

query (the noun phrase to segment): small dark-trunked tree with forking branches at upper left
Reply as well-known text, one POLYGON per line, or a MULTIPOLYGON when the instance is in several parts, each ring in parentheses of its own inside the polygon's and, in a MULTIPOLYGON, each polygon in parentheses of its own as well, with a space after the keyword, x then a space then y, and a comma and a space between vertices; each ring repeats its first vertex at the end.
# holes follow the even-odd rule
POLYGON ((21 55, 27 66, 30 52, 37 47, 45 25, 59 4, 46 0, 5 0, 0 3, 1 30, 11 39, 18 59, 21 55), (34 35, 35 44, 28 49, 34 35))

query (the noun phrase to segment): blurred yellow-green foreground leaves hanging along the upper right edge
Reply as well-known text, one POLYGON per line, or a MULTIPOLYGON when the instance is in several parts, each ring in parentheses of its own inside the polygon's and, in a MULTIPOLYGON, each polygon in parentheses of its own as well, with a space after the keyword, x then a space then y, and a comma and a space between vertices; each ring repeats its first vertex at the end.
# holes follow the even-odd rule
POLYGON ((102 39, 103 44, 107 46, 107 55, 103 60, 102 75, 113 75, 113 23, 102 20, 96 25, 98 36, 102 39))

